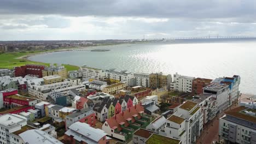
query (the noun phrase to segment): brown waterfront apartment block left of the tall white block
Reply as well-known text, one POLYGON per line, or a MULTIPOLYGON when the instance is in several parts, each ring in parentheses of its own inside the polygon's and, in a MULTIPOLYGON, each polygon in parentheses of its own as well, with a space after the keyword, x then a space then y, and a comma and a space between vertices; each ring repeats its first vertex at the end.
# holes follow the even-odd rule
POLYGON ((167 87, 167 89, 169 89, 171 82, 172 82, 172 75, 170 74, 163 74, 163 73, 149 74, 150 88, 156 89, 156 88, 167 87))

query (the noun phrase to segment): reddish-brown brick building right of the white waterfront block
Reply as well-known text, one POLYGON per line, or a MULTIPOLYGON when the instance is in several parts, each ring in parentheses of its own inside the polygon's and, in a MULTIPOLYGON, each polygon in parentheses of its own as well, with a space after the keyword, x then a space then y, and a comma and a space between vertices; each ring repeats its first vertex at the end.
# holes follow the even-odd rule
POLYGON ((192 82, 192 94, 202 94, 203 93, 203 87, 206 87, 211 84, 211 79, 203 79, 200 77, 197 77, 192 82))

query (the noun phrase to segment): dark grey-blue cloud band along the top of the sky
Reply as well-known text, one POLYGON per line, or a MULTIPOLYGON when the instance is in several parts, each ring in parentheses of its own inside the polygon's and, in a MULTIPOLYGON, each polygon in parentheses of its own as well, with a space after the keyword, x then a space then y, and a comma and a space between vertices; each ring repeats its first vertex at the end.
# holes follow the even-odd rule
POLYGON ((2 14, 255 19, 254 0, 2 0, 2 14))

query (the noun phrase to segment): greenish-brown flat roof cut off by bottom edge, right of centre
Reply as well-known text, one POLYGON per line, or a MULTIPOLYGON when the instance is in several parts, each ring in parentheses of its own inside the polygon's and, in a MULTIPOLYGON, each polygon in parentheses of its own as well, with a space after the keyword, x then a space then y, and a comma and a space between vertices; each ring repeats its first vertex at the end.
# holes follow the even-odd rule
POLYGON ((171 144, 179 144, 180 140, 172 139, 171 137, 162 136, 158 134, 152 134, 148 140, 145 142, 146 144, 162 144, 162 143, 171 143, 171 144))

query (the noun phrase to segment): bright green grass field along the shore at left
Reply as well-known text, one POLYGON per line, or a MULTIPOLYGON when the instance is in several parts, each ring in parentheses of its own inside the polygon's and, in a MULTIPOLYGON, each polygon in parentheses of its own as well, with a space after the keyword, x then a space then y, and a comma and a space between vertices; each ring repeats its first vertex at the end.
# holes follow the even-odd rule
MULTIPOLYGON (((54 50, 0 53, 0 68, 13 69, 13 67, 19 67, 21 65, 26 65, 26 64, 41 64, 41 65, 49 66, 50 65, 49 63, 34 62, 34 61, 29 61, 26 58, 19 58, 19 57, 26 57, 26 56, 30 56, 38 53, 53 52, 53 51, 54 50)), ((67 68, 67 71, 79 69, 79 67, 75 65, 69 65, 69 64, 63 64, 63 65, 67 68)))

